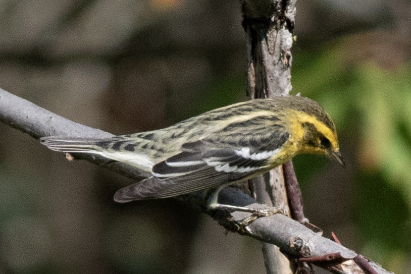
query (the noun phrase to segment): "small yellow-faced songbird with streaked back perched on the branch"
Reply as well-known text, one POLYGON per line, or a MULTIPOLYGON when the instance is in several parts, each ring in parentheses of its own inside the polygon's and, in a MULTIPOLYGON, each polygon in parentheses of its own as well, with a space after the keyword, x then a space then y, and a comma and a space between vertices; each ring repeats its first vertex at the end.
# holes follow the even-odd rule
POLYGON ((300 96, 235 103, 155 131, 102 139, 51 136, 41 142, 52 150, 98 154, 151 173, 117 191, 117 202, 208 189, 204 205, 209 209, 254 212, 219 204, 219 191, 300 153, 324 154, 344 166, 333 121, 317 102, 300 96))

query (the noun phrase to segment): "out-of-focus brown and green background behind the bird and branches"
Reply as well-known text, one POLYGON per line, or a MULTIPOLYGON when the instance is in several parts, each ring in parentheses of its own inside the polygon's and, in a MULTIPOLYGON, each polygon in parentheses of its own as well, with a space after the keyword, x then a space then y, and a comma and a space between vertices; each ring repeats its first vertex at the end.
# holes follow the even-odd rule
MULTIPOLYGON (((239 2, 0 1, 0 87, 114 134, 246 99, 239 2)), ((411 2, 297 1, 293 92, 333 117, 347 168, 297 156, 305 214, 411 271, 411 2), (407 236, 408 235, 408 236, 407 236)), ((0 273, 264 273, 258 241, 0 124, 0 273)))

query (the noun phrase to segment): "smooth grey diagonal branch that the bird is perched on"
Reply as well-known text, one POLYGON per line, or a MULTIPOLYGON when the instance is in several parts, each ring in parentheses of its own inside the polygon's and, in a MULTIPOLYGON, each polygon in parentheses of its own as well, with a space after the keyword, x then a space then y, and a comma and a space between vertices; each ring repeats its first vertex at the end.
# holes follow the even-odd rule
MULTIPOLYGON (((3 89, 0 89, 0 121, 37 139, 48 135, 89 138, 113 136, 110 133, 67 120, 3 89)), ((74 156, 97 165, 104 162, 104 159, 96 156, 86 154, 74 154, 74 156)), ((137 180, 142 176, 139 171, 124 163, 110 163, 103 167, 137 180)), ((202 193, 187 194, 180 199, 191 207, 200 208, 202 193)), ((254 199, 235 188, 226 188, 221 191, 219 199, 222 203, 238 206, 266 207, 256 203, 254 199)), ((357 255, 346 247, 321 237, 281 214, 259 218, 243 228, 240 226, 241 220, 249 216, 248 213, 238 211, 229 213, 224 210, 207 213, 230 231, 279 246, 282 252, 290 258, 320 257, 330 253, 340 253, 345 259, 353 259, 357 255)), ((389 273, 375 263, 372 265, 379 274, 389 273)), ((336 273, 363 273, 352 260, 320 266, 336 273)))

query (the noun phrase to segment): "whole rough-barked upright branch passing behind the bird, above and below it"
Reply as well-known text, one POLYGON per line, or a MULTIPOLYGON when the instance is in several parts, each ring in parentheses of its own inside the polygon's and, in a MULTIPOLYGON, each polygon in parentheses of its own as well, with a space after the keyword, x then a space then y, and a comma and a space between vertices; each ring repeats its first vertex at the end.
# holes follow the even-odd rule
MULTIPOLYGON (((287 95, 291 90, 291 46, 296 0, 242 0, 247 35, 247 93, 251 99, 287 95)), ((260 203, 281 207, 290 216, 282 167, 249 180, 260 203)), ((267 273, 291 273, 279 248, 263 243, 267 273)), ((293 267, 294 268, 294 267, 293 267)))

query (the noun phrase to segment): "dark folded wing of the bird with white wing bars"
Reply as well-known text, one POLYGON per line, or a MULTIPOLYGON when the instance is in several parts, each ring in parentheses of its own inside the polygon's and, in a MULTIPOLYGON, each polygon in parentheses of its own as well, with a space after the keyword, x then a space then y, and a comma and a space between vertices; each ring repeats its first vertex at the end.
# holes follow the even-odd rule
POLYGON ((115 200, 167 198, 240 181, 267 171, 268 159, 279 148, 256 152, 196 141, 184 144, 183 150, 153 166, 152 177, 117 191, 115 200))

